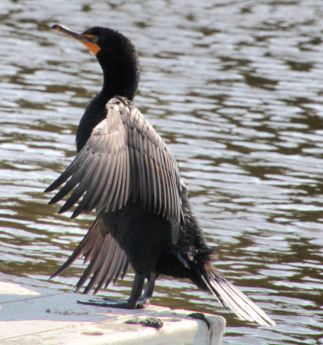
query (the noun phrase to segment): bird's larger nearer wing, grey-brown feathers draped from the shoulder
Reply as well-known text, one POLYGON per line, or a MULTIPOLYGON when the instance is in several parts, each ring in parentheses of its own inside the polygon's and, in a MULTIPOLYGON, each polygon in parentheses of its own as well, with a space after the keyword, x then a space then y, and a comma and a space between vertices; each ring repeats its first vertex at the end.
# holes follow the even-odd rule
POLYGON ((93 209, 115 210, 140 199, 170 220, 176 243, 182 219, 179 198, 179 167, 165 142, 133 103, 124 97, 112 98, 106 105, 107 117, 74 161, 45 192, 68 182, 50 200, 56 203, 74 187, 59 213, 70 209, 84 194, 71 218, 93 209))

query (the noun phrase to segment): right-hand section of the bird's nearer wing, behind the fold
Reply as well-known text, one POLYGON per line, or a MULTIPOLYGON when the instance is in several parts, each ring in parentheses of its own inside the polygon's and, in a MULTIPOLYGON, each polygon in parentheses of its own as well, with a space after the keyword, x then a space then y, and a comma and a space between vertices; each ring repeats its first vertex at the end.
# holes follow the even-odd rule
POLYGON ((176 243, 182 219, 179 197, 180 170, 178 164, 153 126, 133 103, 125 98, 119 103, 127 133, 129 159, 133 174, 131 197, 140 198, 145 207, 153 208, 172 224, 172 239, 176 243))

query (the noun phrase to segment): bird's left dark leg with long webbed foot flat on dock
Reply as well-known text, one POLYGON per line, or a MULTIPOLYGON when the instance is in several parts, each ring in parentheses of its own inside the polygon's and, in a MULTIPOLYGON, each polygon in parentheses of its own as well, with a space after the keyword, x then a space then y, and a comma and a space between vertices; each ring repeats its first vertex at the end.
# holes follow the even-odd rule
POLYGON ((118 299, 110 299, 110 298, 103 298, 105 301, 109 301, 110 303, 106 302, 99 302, 97 300, 90 299, 87 302, 77 301, 77 303, 81 304, 89 304, 89 305, 96 305, 101 307, 110 307, 110 308, 124 308, 124 309, 135 309, 137 307, 141 308, 141 305, 138 305, 138 300, 140 298, 141 292, 143 291, 143 286, 145 282, 145 276, 135 272, 135 278, 133 285, 131 287, 131 293, 129 298, 125 300, 118 300, 118 299))

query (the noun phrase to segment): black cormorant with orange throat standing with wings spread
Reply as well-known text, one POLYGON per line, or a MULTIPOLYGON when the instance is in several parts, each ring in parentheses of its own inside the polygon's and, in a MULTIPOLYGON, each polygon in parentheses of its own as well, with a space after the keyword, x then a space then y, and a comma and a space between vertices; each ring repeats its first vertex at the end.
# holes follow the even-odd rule
POLYGON ((83 255, 90 263, 76 290, 93 274, 84 293, 94 287, 96 293, 111 280, 115 282, 120 275, 123 278, 131 265, 135 278, 127 300, 80 303, 144 308, 150 303, 156 278, 166 275, 192 280, 242 319, 275 325, 214 267, 215 250, 207 245, 190 208, 177 162, 133 104, 140 79, 133 43, 121 33, 99 26, 82 33, 59 24, 52 29, 94 52, 104 75, 102 90, 87 106, 76 131, 76 158, 45 190, 53 191, 69 179, 49 204, 75 188, 59 213, 83 196, 71 217, 94 209, 98 215, 52 277, 83 255))

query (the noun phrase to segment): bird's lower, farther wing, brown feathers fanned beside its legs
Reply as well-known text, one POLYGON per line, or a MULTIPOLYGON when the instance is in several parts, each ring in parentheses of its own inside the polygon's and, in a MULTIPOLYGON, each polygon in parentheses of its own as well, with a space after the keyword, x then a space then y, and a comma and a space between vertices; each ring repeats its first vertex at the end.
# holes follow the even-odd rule
POLYGON ((96 286, 94 290, 94 294, 96 294, 102 285, 105 284, 105 287, 107 287, 111 280, 115 283, 120 274, 121 279, 123 279, 130 266, 126 253, 120 248, 116 240, 111 237, 100 215, 96 217, 88 233, 65 264, 50 278, 60 275, 82 255, 84 256, 84 263, 90 263, 76 284, 76 291, 83 286, 93 273, 90 282, 83 292, 84 294, 87 294, 94 286, 96 286))

